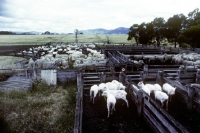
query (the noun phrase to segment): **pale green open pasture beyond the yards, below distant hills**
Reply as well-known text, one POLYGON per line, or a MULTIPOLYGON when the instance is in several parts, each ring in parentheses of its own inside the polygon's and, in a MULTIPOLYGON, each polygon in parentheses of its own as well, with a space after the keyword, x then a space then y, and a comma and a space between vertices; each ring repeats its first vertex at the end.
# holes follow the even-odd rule
MULTIPOLYGON (((106 36, 108 36, 111 43, 135 43, 133 41, 127 41, 128 34, 78 34, 78 43, 104 43, 107 41, 106 36)), ((0 46, 43 45, 48 42, 74 43, 75 35, 0 35, 0 46)))

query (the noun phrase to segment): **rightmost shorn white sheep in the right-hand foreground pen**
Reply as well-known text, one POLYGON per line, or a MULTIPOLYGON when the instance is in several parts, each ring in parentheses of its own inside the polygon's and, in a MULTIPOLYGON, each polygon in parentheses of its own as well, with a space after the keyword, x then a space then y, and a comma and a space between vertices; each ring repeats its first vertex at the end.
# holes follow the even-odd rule
POLYGON ((176 87, 171 86, 168 83, 163 84, 163 92, 166 92, 169 96, 169 101, 172 100, 172 96, 175 95, 176 87))

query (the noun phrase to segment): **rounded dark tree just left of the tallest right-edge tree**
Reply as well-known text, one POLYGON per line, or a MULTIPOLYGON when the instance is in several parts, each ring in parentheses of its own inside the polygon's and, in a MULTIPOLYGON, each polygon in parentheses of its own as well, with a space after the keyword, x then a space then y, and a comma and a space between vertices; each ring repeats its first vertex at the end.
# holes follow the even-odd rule
POLYGON ((182 30, 185 29, 186 23, 187 18, 183 14, 174 15, 168 19, 165 37, 167 37, 168 41, 174 42, 174 47, 176 47, 178 36, 181 34, 182 30))

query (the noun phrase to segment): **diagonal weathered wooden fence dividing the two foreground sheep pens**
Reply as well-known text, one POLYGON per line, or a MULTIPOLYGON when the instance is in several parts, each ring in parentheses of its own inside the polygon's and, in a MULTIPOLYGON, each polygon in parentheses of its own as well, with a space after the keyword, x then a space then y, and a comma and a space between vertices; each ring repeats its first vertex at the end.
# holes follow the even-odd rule
POLYGON ((188 133, 186 128, 170 116, 142 89, 134 88, 133 83, 124 73, 121 73, 120 76, 121 82, 128 84, 128 96, 137 106, 137 115, 139 117, 143 116, 143 119, 155 133, 188 133))

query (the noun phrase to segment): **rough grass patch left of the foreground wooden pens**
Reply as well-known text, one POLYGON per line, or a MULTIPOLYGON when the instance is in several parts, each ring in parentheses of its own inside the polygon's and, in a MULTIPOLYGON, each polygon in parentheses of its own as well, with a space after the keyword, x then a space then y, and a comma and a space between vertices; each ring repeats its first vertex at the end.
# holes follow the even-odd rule
POLYGON ((31 91, 0 93, 0 132, 71 133, 74 127, 76 81, 31 91))

